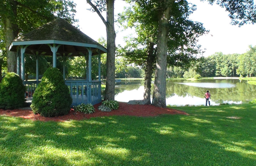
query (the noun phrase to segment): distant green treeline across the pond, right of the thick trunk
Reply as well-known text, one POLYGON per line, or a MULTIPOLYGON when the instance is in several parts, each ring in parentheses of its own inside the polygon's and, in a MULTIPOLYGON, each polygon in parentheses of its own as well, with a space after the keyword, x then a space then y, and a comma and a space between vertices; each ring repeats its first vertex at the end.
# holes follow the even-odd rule
POLYGON ((249 46, 244 54, 223 54, 216 52, 209 57, 200 57, 189 69, 169 66, 167 78, 198 77, 255 77, 256 46, 249 46))

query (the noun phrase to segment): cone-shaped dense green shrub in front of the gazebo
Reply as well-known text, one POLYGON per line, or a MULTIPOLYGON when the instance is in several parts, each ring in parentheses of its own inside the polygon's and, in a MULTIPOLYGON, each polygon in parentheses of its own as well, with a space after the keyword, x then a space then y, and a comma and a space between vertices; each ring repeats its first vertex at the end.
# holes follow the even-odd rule
POLYGON ((71 104, 72 98, 61 72, 57 68, 48 68, 33 94, 32 111, 44 117, 66 115, 71 104))

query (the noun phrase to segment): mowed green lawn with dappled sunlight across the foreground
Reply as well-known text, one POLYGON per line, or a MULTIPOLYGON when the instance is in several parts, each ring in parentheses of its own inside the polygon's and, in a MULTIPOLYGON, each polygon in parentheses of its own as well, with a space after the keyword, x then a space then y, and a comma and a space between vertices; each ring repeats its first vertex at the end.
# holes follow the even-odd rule
POLYGON ((41 122, 0 116, 0 165, 256 165, 256 104, 41 122))

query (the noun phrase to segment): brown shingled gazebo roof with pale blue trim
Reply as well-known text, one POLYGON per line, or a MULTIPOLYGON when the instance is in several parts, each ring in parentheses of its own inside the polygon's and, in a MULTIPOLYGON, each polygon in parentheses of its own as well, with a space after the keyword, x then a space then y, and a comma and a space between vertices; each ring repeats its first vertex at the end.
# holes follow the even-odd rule
POLYGON ((96 52, 98 49, 101 54, 107 52, 105 47, 61 18, 54 19, 14 39, 10 45, 10 51, 16 52, 19 45, 29 45, 26 48, 26 54, 39 51, 39 54, 52 56, 52 51, 47 44, 53 43, 62 44, 57 51, 57 56, 63 53, 72 53, 71 56, 81 56, 81 53, 85 55, 88 52, 85 47, 92 48, 92 55, 98 55, 96 52))

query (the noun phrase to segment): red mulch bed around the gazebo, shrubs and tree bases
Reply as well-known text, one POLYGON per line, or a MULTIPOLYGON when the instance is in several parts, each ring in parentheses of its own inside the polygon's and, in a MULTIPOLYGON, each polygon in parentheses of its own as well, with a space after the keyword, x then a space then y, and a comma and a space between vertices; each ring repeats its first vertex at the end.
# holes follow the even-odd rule
POLYGON ((128 115, 128 116, 138 116, 138 117, 153 117, 161 114, 183 114, 188 115, 186 112, 169 109, 169 108, 159 108, 153 105, 129 105, 125 102, 119 102, 119 108, 117 110, 112 110, 111 112, 101 112, 98 110, 99 104, 95 104, 95 112, 93 114, 84 114, 82 112, 75 112, 73 109, 70 109, 69 113, 64 116, 58 117, 43 117, 39 114, 34 114, 29 109, 0 109, 0 115, 4 116, 14 116, 22 117, 25 119, 31 120, 40 120, 40 121, 67 121, 67 120, 82 120, 89 119, 91 117, 103 117, 103 116, 113 116, 113 115, 128 115))

